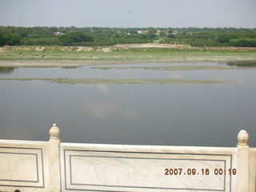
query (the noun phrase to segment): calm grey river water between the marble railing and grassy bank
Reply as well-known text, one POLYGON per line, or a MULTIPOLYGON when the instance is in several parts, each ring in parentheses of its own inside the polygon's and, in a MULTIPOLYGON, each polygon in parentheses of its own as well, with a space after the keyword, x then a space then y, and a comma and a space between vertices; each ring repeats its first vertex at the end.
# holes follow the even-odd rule
POLYGON ((235 66, 226 70, 131 67, 190 65, 226 66, 225 63, 145 63, 108 70, 92 66, 0 68, 0 78, 233 81, 147 85, 1 80, 0 138, 47 140, 48 129, 56 122, 62 130, 62 142, 236 146, 238 131, 244 129, 250 134, 250 146, 256 146, 254 67, 235 66))

